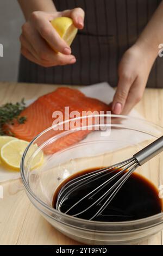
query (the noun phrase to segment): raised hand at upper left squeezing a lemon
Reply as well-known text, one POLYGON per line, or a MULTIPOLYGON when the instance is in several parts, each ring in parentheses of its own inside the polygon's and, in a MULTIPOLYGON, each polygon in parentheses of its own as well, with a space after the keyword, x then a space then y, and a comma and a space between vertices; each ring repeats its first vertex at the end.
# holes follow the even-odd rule
POLYGON ((84 27, 84 11, 81 8, 55 13, 34 11, 30 19, 22 26, 21 53, 30 61, 44 67, 74 64, 76 58, 71 54, 71 48, 62 40, 51 25, 57 17, 71 17, 74 26, 84 27), (58 54, 51 46, 53 45, 58 54))

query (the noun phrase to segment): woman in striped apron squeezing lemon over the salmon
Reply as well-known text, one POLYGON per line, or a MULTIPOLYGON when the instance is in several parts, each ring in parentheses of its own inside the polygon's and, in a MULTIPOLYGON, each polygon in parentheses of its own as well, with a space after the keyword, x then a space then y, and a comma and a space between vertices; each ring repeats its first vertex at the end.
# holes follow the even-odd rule
POLYGON ((162 1, 18 2, 26 17, 20 37, 20 82, 86 85, 108 81, 117 86, 112 102, 115 114, 127 114, 141 100, 146 84, 162 86, 163 60, 159 57, 153 66, 163 43, 162 1), (79 29, 71 48, 49 22, 58 16, 71 17, 79 29))

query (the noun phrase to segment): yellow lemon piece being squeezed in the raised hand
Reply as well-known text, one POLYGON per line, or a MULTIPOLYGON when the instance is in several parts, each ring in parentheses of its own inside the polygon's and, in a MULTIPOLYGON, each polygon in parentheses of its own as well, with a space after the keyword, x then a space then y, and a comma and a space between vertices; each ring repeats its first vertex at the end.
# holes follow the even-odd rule
POLYGON ((72 19, 68 17, 58 17, 52 20, 51 23, 60 37, 70 46, 78 32, 78 29, 73 25, 72 19))

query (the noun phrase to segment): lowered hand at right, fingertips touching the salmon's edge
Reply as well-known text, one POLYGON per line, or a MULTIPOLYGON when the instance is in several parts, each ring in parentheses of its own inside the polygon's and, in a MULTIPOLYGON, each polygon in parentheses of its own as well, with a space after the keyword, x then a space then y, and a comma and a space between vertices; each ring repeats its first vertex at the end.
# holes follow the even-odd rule
POLYGON ((118 67, 118 85, 112 102, 112 113, 128 114, 143 96, 155 58, 149 47, 131 46, 118 67))

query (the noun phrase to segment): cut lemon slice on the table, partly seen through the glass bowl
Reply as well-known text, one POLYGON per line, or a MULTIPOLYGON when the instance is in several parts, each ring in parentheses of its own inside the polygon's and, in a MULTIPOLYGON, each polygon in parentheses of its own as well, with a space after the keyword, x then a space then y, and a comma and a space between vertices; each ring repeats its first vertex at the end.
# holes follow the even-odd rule
MULTIPOLYGON (((1 148, 1 161, 2 163, 7 166, 8 168, 12 170, 20 170, 20 163, 21 163, 21 158, 24 153, 24 150, 27 148, 29 145, 29 142, 22 141, 20 139, 16 139, 14 141, 10 141, 7 144, 5 144, 1 148)), ((36 150, 36 145, 33 145, 29 152, 28 152, 28 157, 32 156, 32 154, 36 150)), ((36 154, 34 159, 32 160, 32 167, 31 168, 36 168, 43 162, 43 152, 39 151, 39 153, 36 154)))

